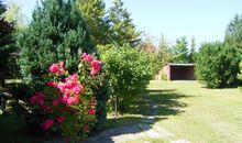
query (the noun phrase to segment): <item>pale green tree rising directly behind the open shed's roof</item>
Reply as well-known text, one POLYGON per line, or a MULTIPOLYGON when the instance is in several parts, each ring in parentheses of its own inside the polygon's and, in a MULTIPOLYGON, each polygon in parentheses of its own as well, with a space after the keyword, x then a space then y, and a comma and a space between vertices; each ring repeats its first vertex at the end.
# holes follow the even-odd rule
POLYGON ((172 50, 172 54, 173 63, 188 63, 188 48, 186 36, 177 38, 176 45, 172 50))

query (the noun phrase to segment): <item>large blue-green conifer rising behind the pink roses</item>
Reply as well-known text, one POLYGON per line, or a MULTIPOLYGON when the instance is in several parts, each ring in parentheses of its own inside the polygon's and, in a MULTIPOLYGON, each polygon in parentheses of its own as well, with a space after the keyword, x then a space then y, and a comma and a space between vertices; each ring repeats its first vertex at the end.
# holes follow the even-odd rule
POLYGON ((42 1, 32 16, 29 28, 16 38, 23 81, 37 90, 51 63, 64 61, 73 73, 77 70, 79 53, 96 48, 74 0, 42 1))

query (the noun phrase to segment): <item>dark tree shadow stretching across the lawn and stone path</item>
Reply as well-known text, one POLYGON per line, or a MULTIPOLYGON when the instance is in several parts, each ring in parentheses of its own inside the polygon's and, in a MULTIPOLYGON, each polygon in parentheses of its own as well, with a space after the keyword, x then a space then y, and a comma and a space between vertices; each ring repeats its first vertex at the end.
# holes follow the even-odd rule
POLYGON ((108 119, 107 130, 88 139, 85 143, 114 143, 112 136, 116 135, 124 135, 122 136, 124 140, 130 136, 139 136, 143 131, 151 130, 156 121, 166 120, 168 116, 184 112, 183 108, 187 107, 187 103, 179 99, 189 97, 178 94, 175 89, 146 90, 146 95, 150 96, 136 98, 123 117, 108 119), (153 108, 154 106, 156 109, 153 108), (150 119, 152 116, 155 116, 155 119, 150 119))

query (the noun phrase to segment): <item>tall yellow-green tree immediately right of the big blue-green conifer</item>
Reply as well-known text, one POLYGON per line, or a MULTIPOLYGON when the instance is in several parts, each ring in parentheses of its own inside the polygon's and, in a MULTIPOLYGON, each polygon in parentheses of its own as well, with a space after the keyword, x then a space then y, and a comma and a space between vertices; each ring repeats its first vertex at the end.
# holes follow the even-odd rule
POLYGON ((77 4, 89 29, 91 41, 96 45, 108 44, 109 24, 103 0, 77 0, 77 4))

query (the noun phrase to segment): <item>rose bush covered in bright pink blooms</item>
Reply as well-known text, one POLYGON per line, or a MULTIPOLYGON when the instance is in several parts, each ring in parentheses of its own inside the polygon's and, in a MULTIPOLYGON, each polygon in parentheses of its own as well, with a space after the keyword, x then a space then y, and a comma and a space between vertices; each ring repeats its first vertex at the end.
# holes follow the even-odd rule
POLYGON ((65 139, 81 140, 94 128, 97 100, 92 88, 102 84, 101 62, 84 53, 78 72, 69 74, 59 62, 50 66, 45 88, 33 95, 30 103, 44 112, 40 127, 59 131, 65 139))

